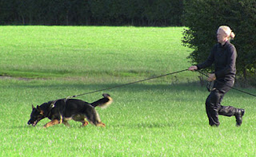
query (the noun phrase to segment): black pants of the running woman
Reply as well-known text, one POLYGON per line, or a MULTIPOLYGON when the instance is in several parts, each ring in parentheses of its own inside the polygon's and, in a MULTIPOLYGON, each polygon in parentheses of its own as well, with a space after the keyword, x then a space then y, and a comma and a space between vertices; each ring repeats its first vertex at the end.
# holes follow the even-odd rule
POLYGON ((209 119, 210 126, 218 126, 218 115, 222 116, 234 116, 238 111, 233 106, 222 106, 221 102, 226 94, 230 90, 230 87, 234 85, 234 79, 217 80, 214 82, 214 90, 210 92, 210 95, 206 99, 206 113, 209 119))

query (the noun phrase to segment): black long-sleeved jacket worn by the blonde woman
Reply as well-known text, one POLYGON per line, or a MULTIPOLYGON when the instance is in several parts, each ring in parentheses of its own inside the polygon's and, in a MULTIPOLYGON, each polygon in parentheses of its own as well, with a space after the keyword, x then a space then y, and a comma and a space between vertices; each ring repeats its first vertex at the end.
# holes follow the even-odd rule
POLYGON ((237 51, 229 41, 225 45, 216 44, 211 50, 209 57, 202 64, 197 65, 198 69, 204 69, 214 63, 216 79, 224 79, 235 76, 235 61, 237 51))

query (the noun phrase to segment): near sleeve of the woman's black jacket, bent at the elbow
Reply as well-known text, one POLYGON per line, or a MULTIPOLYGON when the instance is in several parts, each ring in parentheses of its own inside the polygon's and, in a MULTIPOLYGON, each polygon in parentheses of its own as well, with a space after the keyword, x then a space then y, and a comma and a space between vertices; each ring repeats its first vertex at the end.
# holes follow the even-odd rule
POLYGON ((226 66, 223 69, 218 70, 218 72, 215 72, 215 76, 218 78, 218 77, 224 77, 226 74, 235 74, 236 58, 237 58, 237 51, 234 46, 230 46, 227 51, 226 66))

